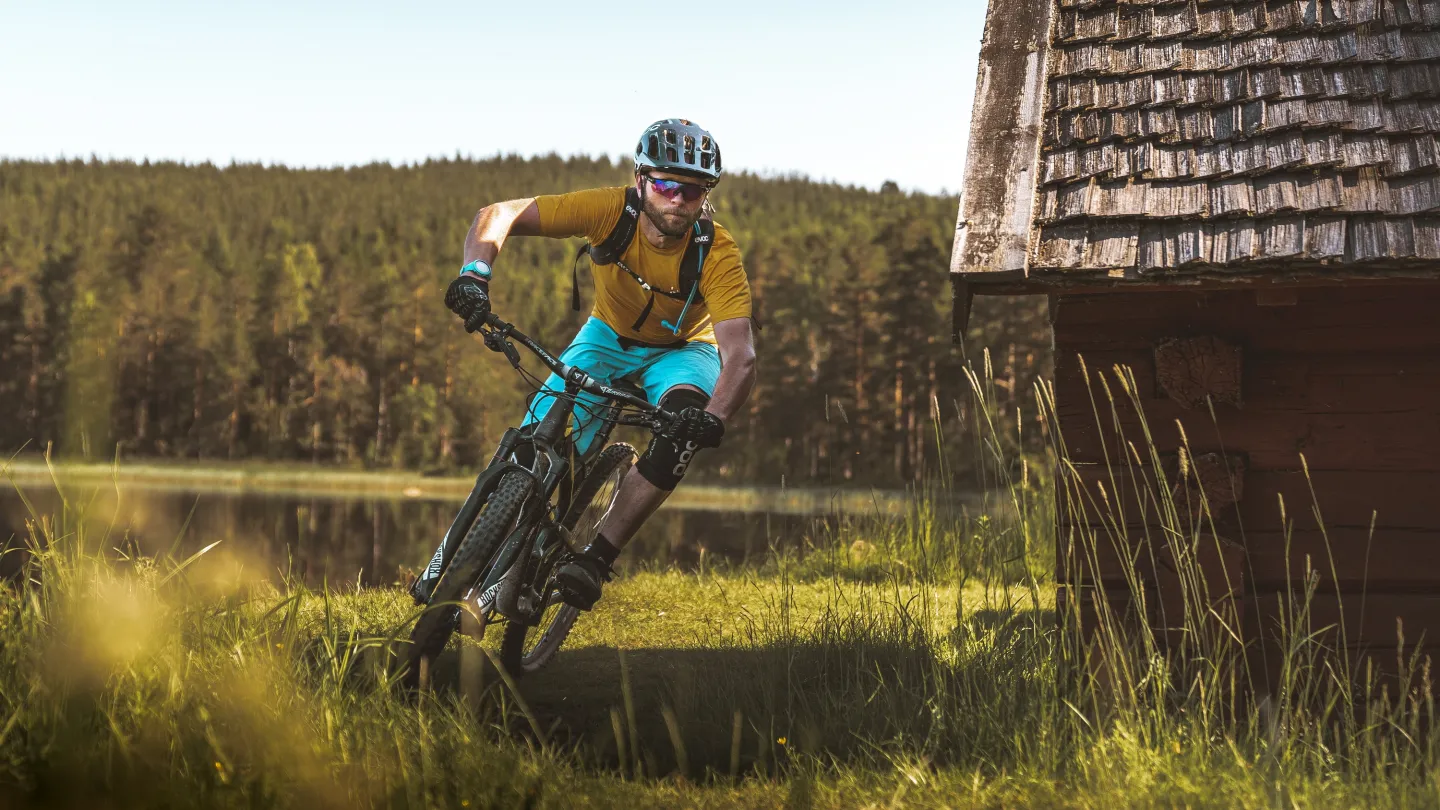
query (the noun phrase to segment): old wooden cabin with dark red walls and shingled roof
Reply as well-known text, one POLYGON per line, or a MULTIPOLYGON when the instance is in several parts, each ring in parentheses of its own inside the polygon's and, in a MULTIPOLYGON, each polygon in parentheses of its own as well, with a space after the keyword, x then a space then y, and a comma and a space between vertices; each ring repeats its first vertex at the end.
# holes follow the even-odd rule
MULTIPOLYGON (((1048 295, 1063 597, 1133 598, 1067 539, 1164 546, 1164 480, 1247 641, 1308 559, 1346 650, 1440 638, 1440 0, 991 0, 952 281, 958 337, 1048 295)), ((1129 553, 1172 628, 1178 552, 1129 553)))

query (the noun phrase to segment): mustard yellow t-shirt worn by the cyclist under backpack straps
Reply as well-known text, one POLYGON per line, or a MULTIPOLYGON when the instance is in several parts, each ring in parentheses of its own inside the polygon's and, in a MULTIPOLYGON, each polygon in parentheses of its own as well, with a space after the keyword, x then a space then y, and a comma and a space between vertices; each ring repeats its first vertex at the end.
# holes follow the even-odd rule
MULTIPOLYGON (((625 189, 547 195, 536 197, 536 206, 540 209, 541 235, 583 236, 592 245, 598 245, 619 222, 621 210, 625 208, 625 189)), ((680 290, 680 259, 684 258, 688 245, 688 239, 681 239, 672 249, 661 251, 636 231, 621 261, 651 287, 675 291, 680 290)), ((685 303, 658 293, 649 317, 639 330, 635 330, 632 327, 645 311, 651 294, 618 264, 595 265, 593 314, 621 337, 644 343, 674 343, 677 339, 714 343, 716 321, 750 317, 750 281, 740 265, 740 248, 720 223, 716 223, 716 241, 700 274, 700 295, 704 295, 704 300, 697 297, 690 306, 678 336, 661 326, 661 321, 675 323, 685 303)))

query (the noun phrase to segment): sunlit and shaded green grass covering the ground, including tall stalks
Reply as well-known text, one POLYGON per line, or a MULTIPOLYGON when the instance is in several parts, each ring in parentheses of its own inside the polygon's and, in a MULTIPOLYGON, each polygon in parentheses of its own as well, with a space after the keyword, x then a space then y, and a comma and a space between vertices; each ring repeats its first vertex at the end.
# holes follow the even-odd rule
MULTIPOLYGON (((972 378, 975 395, 989 393, 972 378)), ((1040 391, 1047 422, 1048 392, 1040 391)), ((985 419, 984 408, 976 408, 985 419)), ((395 683, 396 587, 276 582, 223 545, 125 551, 58 480, 0 587, 0 797, 45 807, 1433 807, 1428 687, 1289 641, 1244 687, 1224 634, 1162 649, 1056 614, 1066 467, 979 448, 1008 500, 847 520, 757 568, 641 569, 549 669, 395 683), (1058 468, 1051 481, 1037 468, 1058 468)), ((1054 432, 1053 430, 1050 431, 1054 432)), ((1058 437, 1051 437, 1058 447, 1058 437)), ((1182 533, 1181 528, 1175 529, 1182 533)), ((1185 529, 1188 530, 1188 529, 1185 529)), ((1297 611, 1305 610, 1299 595, 1297 611)), ((1103 607, 1103 605, 1102 605, 1103 607)), ((1413 666, 1427 666, 1411 662, 1413 666)), ((1427 683, 1427 679, 1423 680, 1427 683)))

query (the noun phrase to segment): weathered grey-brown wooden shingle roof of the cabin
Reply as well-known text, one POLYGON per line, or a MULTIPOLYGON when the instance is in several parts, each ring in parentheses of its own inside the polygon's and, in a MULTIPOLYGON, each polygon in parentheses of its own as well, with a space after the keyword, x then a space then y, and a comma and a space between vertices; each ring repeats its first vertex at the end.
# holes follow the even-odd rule
POLYGON ((1027 277, 1440 259, 1440 0, 1048 12, 1027 277))

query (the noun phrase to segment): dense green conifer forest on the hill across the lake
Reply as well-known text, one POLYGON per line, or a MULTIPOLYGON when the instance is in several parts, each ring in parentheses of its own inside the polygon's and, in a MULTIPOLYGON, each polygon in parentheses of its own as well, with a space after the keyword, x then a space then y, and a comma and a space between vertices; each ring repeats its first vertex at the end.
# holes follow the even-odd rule
MULTIPOLYGON (((442 301, 475 210, 626 182, 585 157, 0 161, 0 451, 472 470, 531 391, 442 301)), ((901 486, 942 460, 963 476, 956 200, 737 174, 714 203, 755 290, 760 379, 696 477, 901 486)), ((576 246, 513 239, 492 285, 556 352, 586 314, 576 246)), ((1048 362, 1043 307, 981 300, 968 344, 991 349, 1014 408, 1048 362)))

